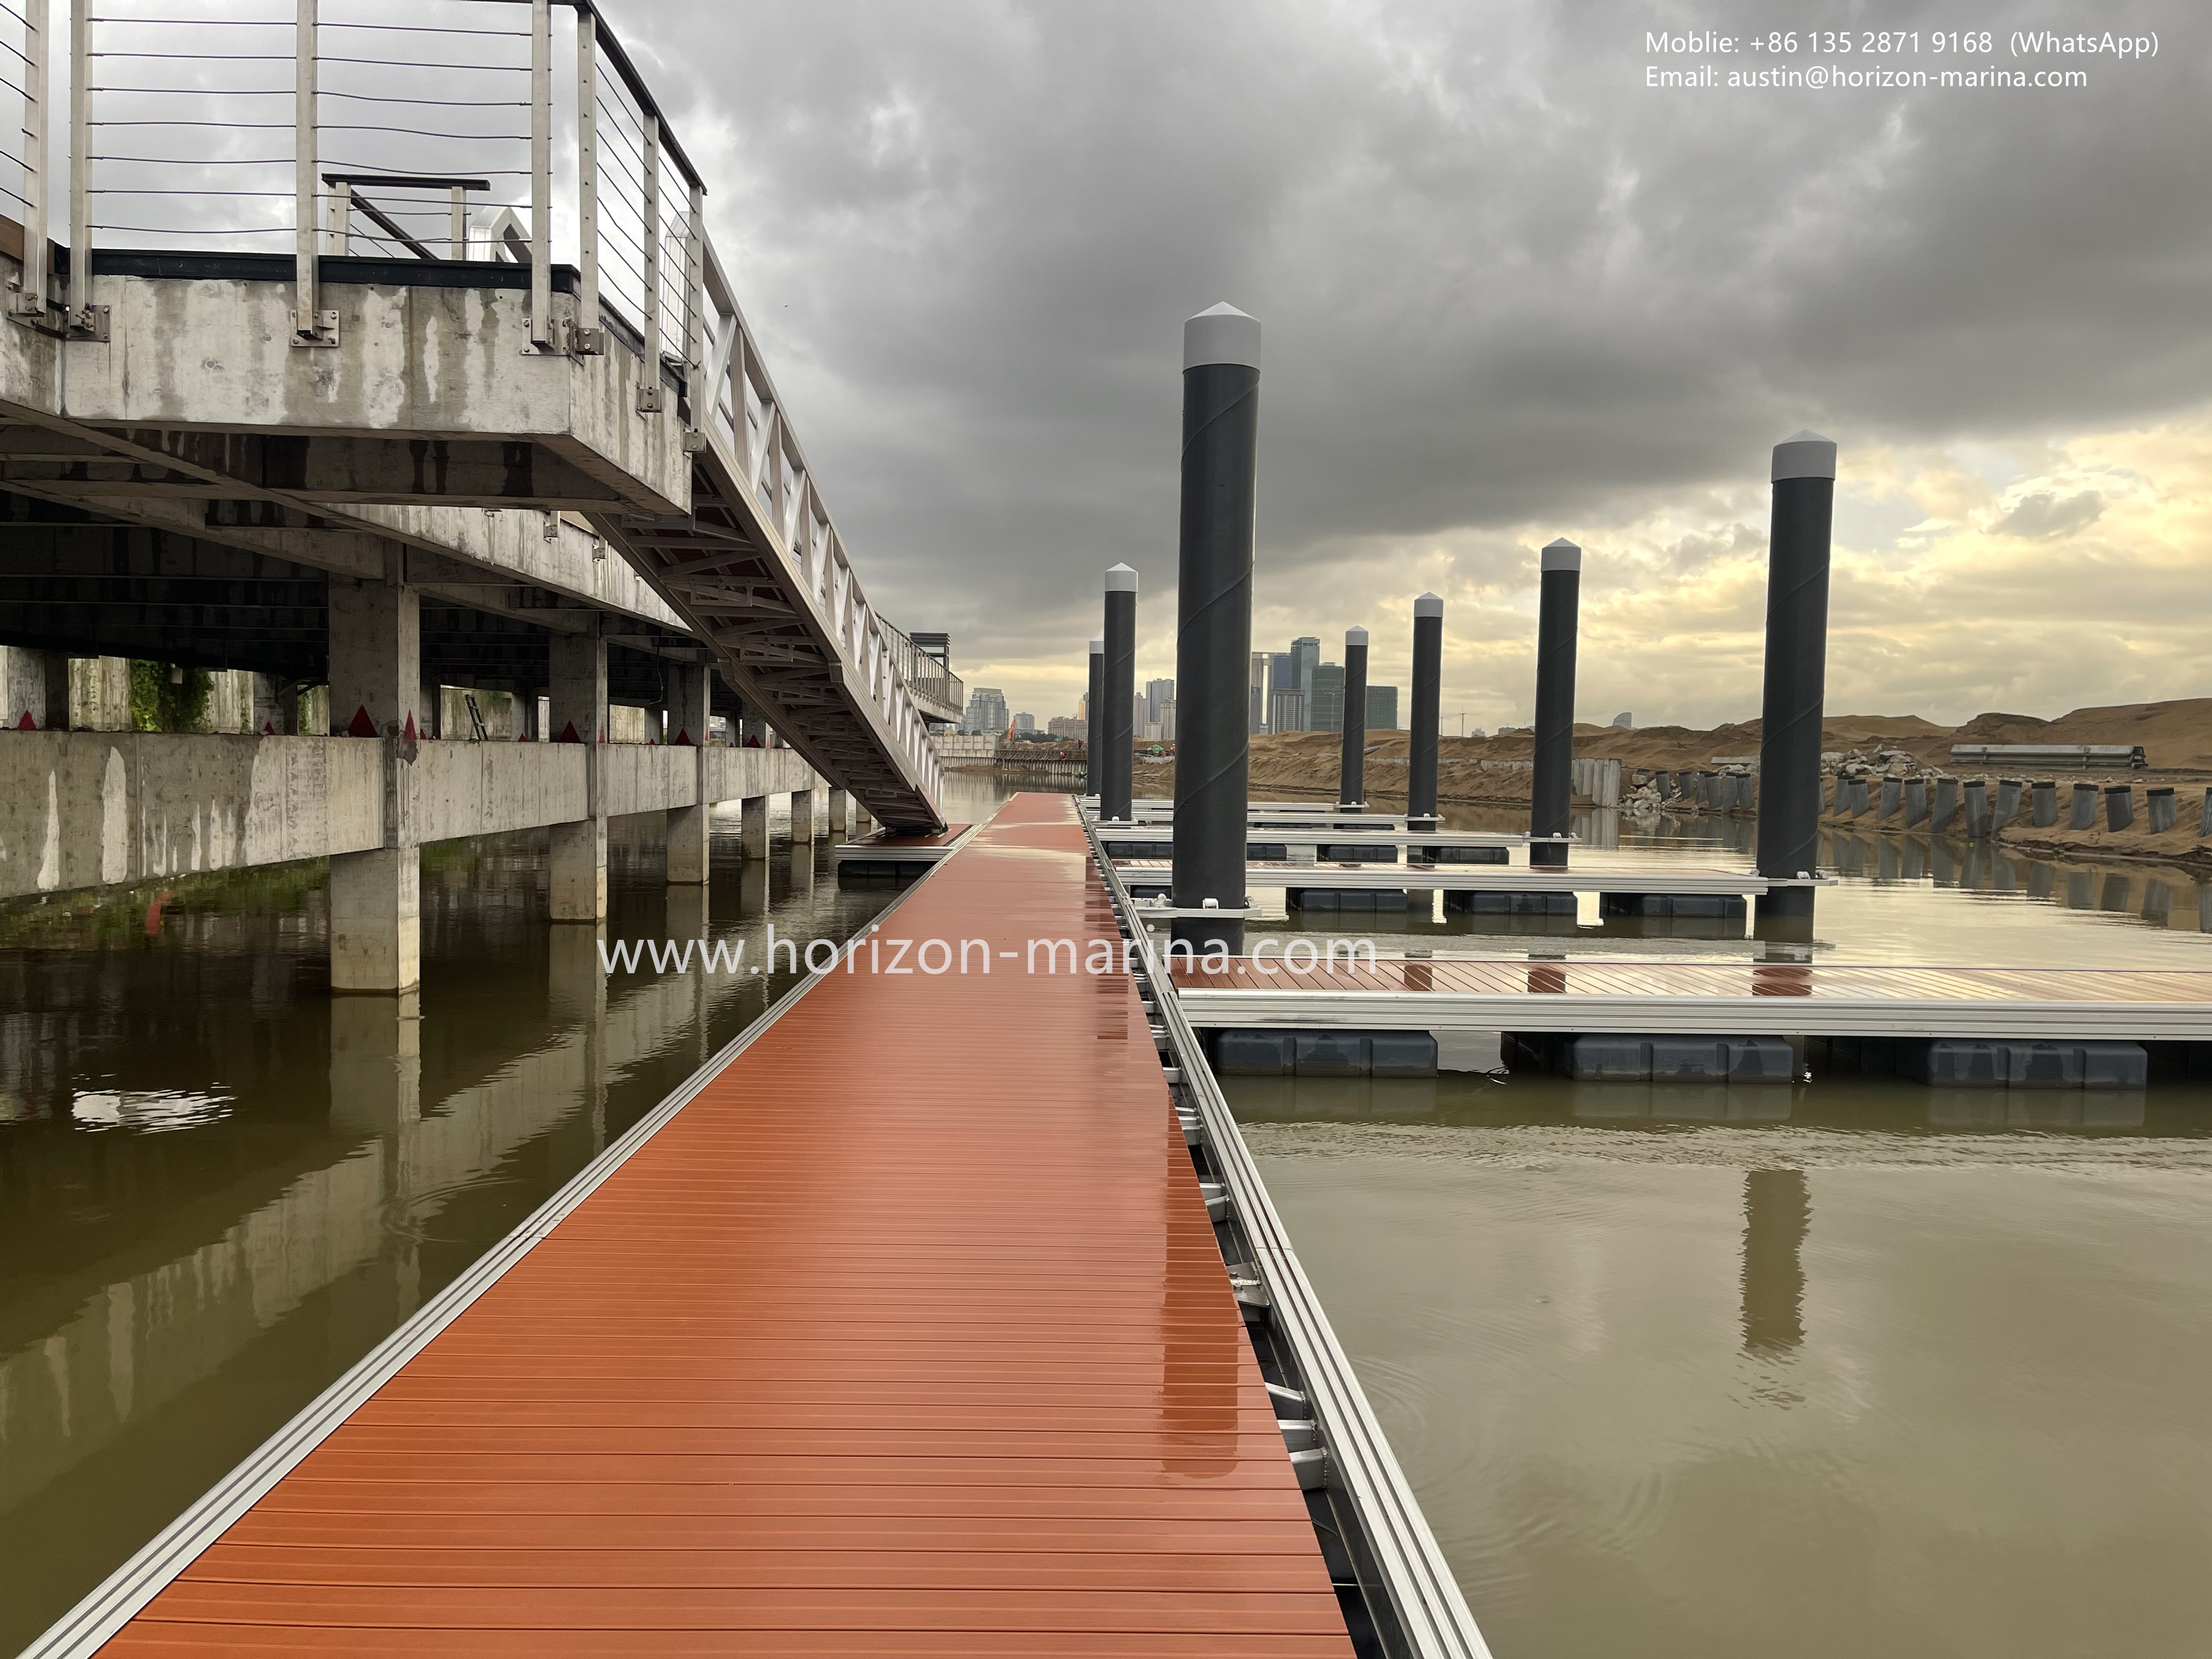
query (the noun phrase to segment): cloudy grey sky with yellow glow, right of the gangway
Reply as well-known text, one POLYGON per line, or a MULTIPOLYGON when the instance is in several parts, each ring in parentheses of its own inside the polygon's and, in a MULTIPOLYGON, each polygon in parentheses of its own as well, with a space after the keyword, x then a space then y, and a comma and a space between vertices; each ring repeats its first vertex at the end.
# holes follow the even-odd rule
MULTIPOLYGON (((1604 0, 611 0, 872 595, 1073 712, 1099 573, 1175 670, 1181 321, 1263 319, 1254 644, 1447 599, 1444 710, 1526 719, 1535 549, 1579 712, 1756 714, 1767 447, 1843 445, 1829 708, 2212 692, 2212 11, 2020 60, 2044 7, 1825 7, 1869 62, 2086 88, 1659 91, 1604 0), (1991 29, 1995 51, 1933 51, 1991 29)), ((2088 11, 2081 11, 2086 18, 2088 11)))

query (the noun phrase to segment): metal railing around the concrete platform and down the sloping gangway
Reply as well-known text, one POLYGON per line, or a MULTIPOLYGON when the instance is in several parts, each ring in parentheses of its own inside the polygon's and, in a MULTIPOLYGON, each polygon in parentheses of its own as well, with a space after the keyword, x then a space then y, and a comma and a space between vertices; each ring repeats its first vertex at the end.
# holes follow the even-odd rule
MULTIPOLYGON (((204 91, 184 73, 188 62, 179 66, 175 84, 102 84, 100 66, 117 53, 104 51, 97 35, 128 20, 104 18, 80 4, 66 46, 51 51, 55 42, 42 27, 44 9, 29 13, 0 9, 0 46, 18 51, 29 64, 22 133, 0 144, 0 159, 24 168, 20 192, 24 246, 33 250, 20 290, 7 296, 4 316, 58 338, 106 338, 106 312, 91 299, 95 263, 91 252, 119 232, 199 237, 204 246, 226 252, 237 252, 241 241, 246 250, 265 254, 283 248, 281 257, 296 290, 292 343, 307 349, 341 345, 341 310, 323 294, 325 279, 341 279, 341 270, 325 270, 325 261, 349 254, 354 241, 383 243, 420 261, 438 261, 436 250, 445 243, 456 254, 453 265, 493 259, 526 263, 531 349, 573 358, 604 356, 608 349, 635 352, 646 365, 637 383, 637 414, 681 420, 681 447, 695 456, 695 498, 701 493, 697 480, 719 467, 721 478, 710 480, 703 493, 743 495, 743 511, 737 518, 743 520, 745 533, 761 546, 763 557, 774 562, 779 582, 787 580, 803 588, 805 597, 790 606, 803 630, 801 655, 807 657, 816 679, 827 684, 827 697, 838 708, 827 721, 832 734, 812 750, 805 741, 799 748, 810 752, 810 761, 821 763, 816 770, 838 783, 847 781, 841 772, 854 770, 880 794, 880 803, 896 807, 900 816, 938 814, 942 768, 929 752, 929 721, 958 717, 951 699, 960 695, 960 681, 927 661, 905 633, 883 622, 863 591, 708 237, 706 181, 668 126, 646 77, 606 24, 602 4, 502 0, 502 9, 489 13, 500 18, 491 29, 427 24, 405 35, 378 35, 374 55, 332 49, 332 38, 349 40, 334 31, 378 24, 323 18, 316 0, 292 0, 279 15, 268 11, 259 7, 254 15, 246 15, 241 7, 208 0, 192 18, 137 20, 161 29, 190 22, 265 33, 272 51, 206 53, 206 60, 257 64, 237 73, 259 75, 268 84, 204 91), (283 15, 285 11, 292 15, 283 15), (573 13, 575 40, 573 60, 555 64, 553 18, 560 11, 573 13), (20 42, 7 38, 9 29, 20 31, 20 42), (285 51, 279 42, 288 33, 285 51), (440 35, 449 40, 438 40, 440 35), (522 55, 526 64, 520 62, 522 55), (338 66, 367 62, 389 62, 425 75, 471 77, 471 93, 440 97, 420 95, 425 93, 420 84, 407 84, 403 91, 323 84, 325 73, 341 75, 338 66), (502 84, 513 84, 515 97, 473 91, 473 77, 493 71, 498 77, 511 77, 502 84), (573 128, 555 128, 557 86, 573 88, 573 128), (212 100, 215 106, 201 111, 197 102, 177 104, 199 97, 212 100), (111 144, 84 142, 84 133, 97 135, 108 122, 144 124, 139 115, 159 115, 164 126, 195 131, 239 128, 241 117, 223 100, 234 104, 241 97, 268 100, 257 102, 254 111, 265 108, 274 115, 274 119, 254 117, 243 122, 246 126, 288 133, 290 142, 272 137, 268 155, 250 157, 115 155, 111 144), (155 100, 159 108, 142 111, 128 104, 131 100, 155 100), (332 106, 327 100, 347 102, 332 106), (378 100, 394 104, 392 115, 376 113, 378 100), (416 106, 436 106, 438 115, 425 115, 416 106), (290 119, 279 113, 285 108, 290 119), (338 108, 343 113, 334 113, 338 108), (447 113, 460 108, 473 113, 467 117, 447 113), (524 108, 526 122, 520 119, 524 108), (484 111, 515 111, 515 119, 487 117, 484 111), (181 119, 188 115, 210 119, 181 119), (66 204, 66 210, 49 215, 44 161, 53 153, 51 139, 71 124, 84 133, 69 146, 64 190, 51 192, 58 197, 51 206, 66 204), (526 133, 520 131, 524 124, 526 133), (323 155, 325 142, 341 146, 345 155, 323 155), (456 146, 460 153, 445 153, 456 146), (276 153, 285 148, 290 155, 276 153), (555 153, 562 164, 560 177, 555 177, 555 153), (146 173, 186 161, 199 170, 146 173), (208 181, 204 168, 226 173, 208 181), (447 170, 453 177, 445 177, 447 170), (173 177, 188 181, 170 184, 173 177), (487 199, 478 204, 484 217, 471 223, 471 204, 447 197, 460 186, 487 186, 491 179, 504 179, 507 186, 487 188, 487 199), (378 184, 385 188, 378 190, 378 184), (376 190, 376 199, 361 195, 356 186, 376 190), (555 186, 560 212, 555 212, 555 186), (438 199, 418 199, 425 192, 438 199), (131 223, 102 221, 91 204, 111 201, 153 201, 159 210, 144 215, 133 210, 131 223), (254 206, 239 208, 239 201, 254 206), (356 210, 363 210, 374 230, 354 226, 356 210), (64 239, 49 234, 49 219, 66 221, 64 239), (49 259, 38 257, 38 250, 58 243, 75 250, 62 274, 49 259), (564 263, 571 243, 577 261, 573 301, 562 292, 555 303, 553 268, 564 263), (637 312, 635 321, 628 316, 630 310, 637 312), (703 453, 708 449, 714 451, 714 467, 703 453)), ((164 49, 159 55, 195 60, 201 53, 179 42, 175 51, 164 49)), ((566 97, 566 91, 562 95, 566 97)), ((469 190, 460 190, 460 197, 467 195, 469 190)), ((108 208, 102 206, 100 212, 108 208)), ((181 250, 190 243, 161 246, 181 250)), ((498 285, 511 283, 502 279, 498 285)), ((670 449, 677 436, 668 434, 670 449)), ((595 529, 602 535, 619 531, 619 526, 595 529)), ((628 555, 630 549, 624 551, 628 555)), ((639 575, 655 582, 655 573, 637 557, 630 562, 639 566, 639 575)), ((668 593, 661 597, 670 599, 668 593)), ((670 604, 675 606, 672 599, 670 604)), ((717 648, 732 679, 743 679, 748 672, 743 650, 717 637, 699 611, 675 608, 717 648)), ((754 661, 774 664, 779 661, 774 653, 781 648, 772 641, 765 653, 754 655, 754 661)), ((752 697, 768 679, 763 672, 739 690, 752 697)), ((823 686, 807 690, 818 695, 823 686)), ((772 697, 763 701, 772 710, 779 708, 772 697)), ((790 708, 803 710, 803 706, 805 699, 794 695, 790 708)))

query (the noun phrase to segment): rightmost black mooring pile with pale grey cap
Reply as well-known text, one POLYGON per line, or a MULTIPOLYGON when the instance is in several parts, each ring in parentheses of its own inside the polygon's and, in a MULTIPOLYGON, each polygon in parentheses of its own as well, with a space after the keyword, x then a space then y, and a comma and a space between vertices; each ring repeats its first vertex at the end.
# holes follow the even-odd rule
MULTIPOLYGON (((1836 507, 1836 445, 1798 431, 1774 445, 1767 535, 1767 664, 1761 699, 1756 867, 1809 876, 1820 858, 1820 714, 1827 699, 1827 562, 1836 507)), ((1809 918, 1812 887, 1759 898, 1763 916, 1809 918)))

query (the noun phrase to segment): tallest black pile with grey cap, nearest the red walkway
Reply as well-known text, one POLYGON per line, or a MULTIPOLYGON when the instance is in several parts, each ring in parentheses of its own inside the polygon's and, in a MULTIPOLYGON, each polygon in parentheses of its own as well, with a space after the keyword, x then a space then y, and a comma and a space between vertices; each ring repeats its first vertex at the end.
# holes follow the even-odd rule
MULTIPOLYGON (((1179 909, 1241 909, 1245 900, 1256 507, 1259 319, 1214 305, 1183 323, 1183 480, 1175 553, 1172 894, 1179 909)), ((1128 599, 1135 619, 1135 573, 1128 599)), ((1130 668, 1135 688, 1135 661, 1130 668)), ((1108 697, 1115 690, 1119 684, 1108 697)), ((1117 816, 1128 816, 1126 796, 1121 807, 1117 816)), ((1186 916, 1170 927, 1199 953, 1243 951, 1241 916, 1186 916)))

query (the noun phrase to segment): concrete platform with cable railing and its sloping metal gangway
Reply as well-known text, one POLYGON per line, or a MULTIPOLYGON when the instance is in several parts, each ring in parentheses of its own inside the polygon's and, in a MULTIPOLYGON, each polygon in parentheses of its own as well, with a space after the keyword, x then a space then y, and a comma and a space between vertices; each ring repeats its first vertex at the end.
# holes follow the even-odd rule
POLYGON ((325 568, 542 515, 876 818, 942 825, 960 681, 869 602, 599 7, 66 15, 0 0, 0 484, 325 568))

